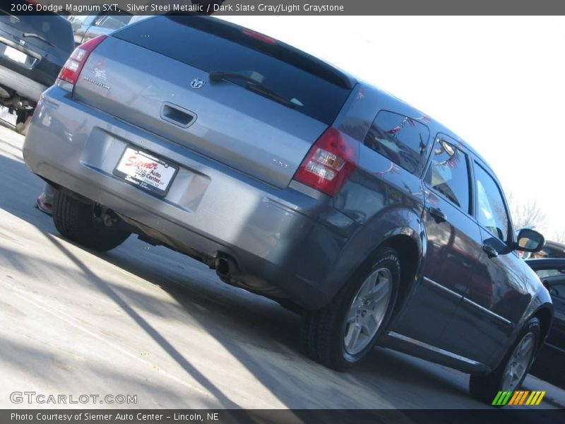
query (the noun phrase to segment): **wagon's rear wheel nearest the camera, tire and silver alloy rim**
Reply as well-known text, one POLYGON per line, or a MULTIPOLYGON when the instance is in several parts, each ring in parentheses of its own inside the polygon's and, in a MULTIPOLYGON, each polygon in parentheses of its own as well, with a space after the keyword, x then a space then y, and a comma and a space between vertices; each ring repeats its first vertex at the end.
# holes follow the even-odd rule
POLYGON ((362 360, 386 328, 399 284, 398 254, 381 249, 330 305, 304 314, 302 338, 309 357, 335 370, 362 360))

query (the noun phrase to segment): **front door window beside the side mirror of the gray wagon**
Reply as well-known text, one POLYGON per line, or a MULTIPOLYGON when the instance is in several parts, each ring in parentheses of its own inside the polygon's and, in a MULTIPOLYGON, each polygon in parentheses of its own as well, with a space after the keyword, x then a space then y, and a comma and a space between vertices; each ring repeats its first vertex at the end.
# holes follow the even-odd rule
POLYGON ((480 166, 475 166, 477 180, 477 220, 492 235, 506 242, 509 235, 509 216, 498 184, 480 166))

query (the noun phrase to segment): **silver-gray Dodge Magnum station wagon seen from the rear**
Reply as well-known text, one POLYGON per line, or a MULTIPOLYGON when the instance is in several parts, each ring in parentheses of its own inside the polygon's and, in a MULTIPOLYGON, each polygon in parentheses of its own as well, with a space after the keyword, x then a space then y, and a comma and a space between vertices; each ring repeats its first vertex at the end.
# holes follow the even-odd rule
MULTIPOLYGON (((385 58, 383 58, 385 61, 385 58)), ((304 349, 345 370, 378 343, 468 372, 490 403, 552 322, 496 176, 434 119, 339 69, 204 16, 79 46, 24 146, 57 230, 131 233, 299 311, 304 349)))

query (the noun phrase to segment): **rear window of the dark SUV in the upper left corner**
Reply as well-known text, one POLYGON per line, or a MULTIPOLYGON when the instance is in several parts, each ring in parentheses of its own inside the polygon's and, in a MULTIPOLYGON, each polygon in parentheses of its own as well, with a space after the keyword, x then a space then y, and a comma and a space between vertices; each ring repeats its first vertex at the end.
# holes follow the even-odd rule
POLYGON ((56 47, 66 54, 73 52, 73 29, 71 28, 71 23, 62 16, 15 16, 2 10, 0 11, 0 24, 17 28, 23 34, 27 35, 23 37, 23 40, 30 42, 32 45, 43 44, 45 48, 56 47))

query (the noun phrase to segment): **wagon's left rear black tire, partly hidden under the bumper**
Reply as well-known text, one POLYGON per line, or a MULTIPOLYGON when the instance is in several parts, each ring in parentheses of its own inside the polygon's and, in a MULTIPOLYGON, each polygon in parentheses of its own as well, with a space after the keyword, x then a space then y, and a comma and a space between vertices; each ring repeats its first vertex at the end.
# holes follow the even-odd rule
POLYGON ((130 232, 108 226, 97 218, 94 204, 80 201, 64 190, 57 190, 53 202, 53 222, 63 237, 78 245, 107 252, 121 245, 130 232))

